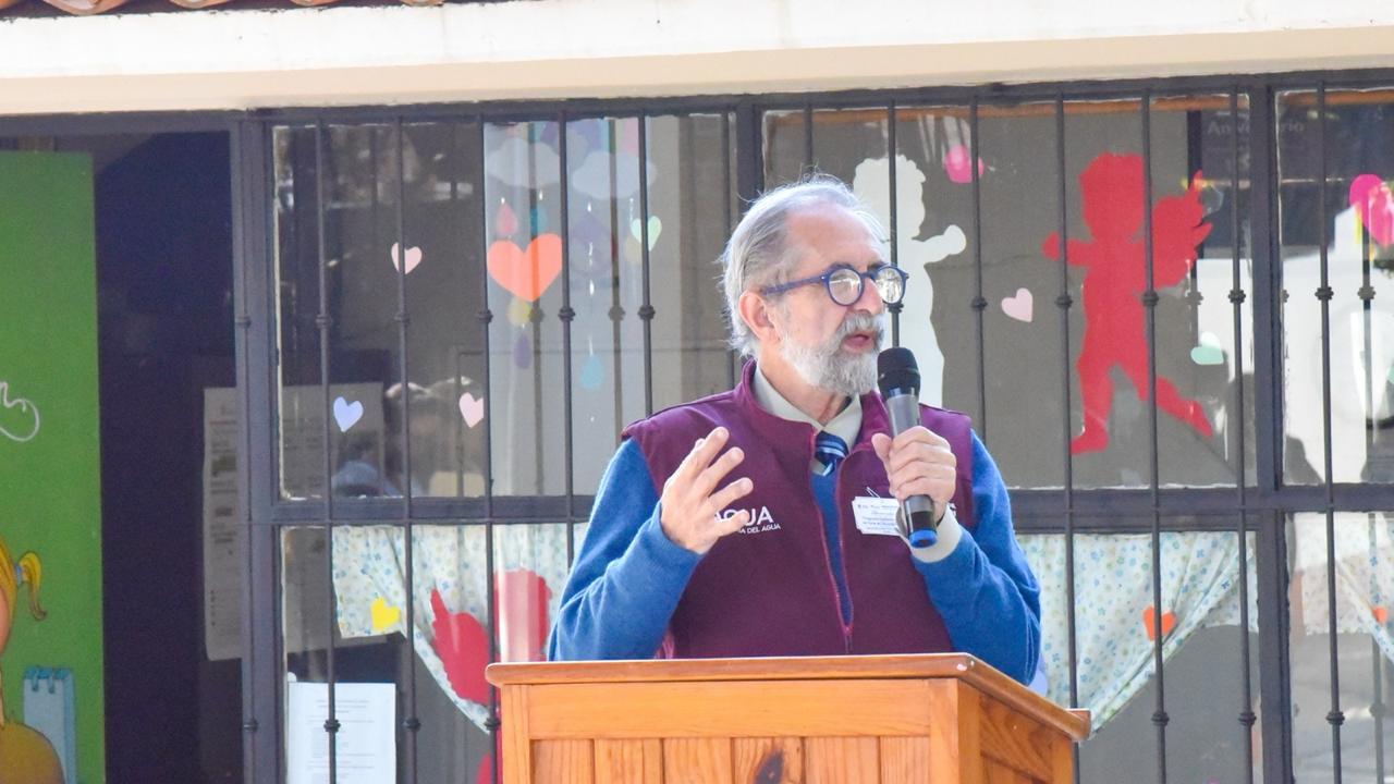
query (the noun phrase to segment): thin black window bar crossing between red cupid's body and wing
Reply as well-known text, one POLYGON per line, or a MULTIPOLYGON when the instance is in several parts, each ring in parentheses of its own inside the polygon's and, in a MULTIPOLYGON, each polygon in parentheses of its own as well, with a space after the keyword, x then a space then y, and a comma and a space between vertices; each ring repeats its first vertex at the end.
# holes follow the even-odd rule
POLYGON ((1151 91, 1142 93, 1142 236, 1147 289, 1143 292, 1147 332, 1147 425, 1149 472, 1151 481, 1151 605, 1153 665, 1157 670, 1157 709, 1151 723, 1157 727, 1157 781, 1167 784, 1167 681, 1163 667, 1161 632, 1161 480, 1157 455, 1157 282, 1153 266, 1151 233, 1151 91))

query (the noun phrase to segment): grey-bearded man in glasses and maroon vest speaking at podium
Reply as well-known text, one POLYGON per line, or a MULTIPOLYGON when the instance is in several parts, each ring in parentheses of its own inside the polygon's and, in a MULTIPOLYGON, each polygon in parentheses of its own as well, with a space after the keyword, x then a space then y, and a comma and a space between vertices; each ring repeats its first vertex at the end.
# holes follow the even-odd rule
POLYGON ((1030 681, 1040 589, 997 466, 956 412, 920 406, 892 437, 874 392, 906 283, 881 248, 831 177, 750 206, 723 262, 732 343, 754 361, 625 430, 551 658, 960 650, 1030 681), (912 495, 941 515, 926 547, 870 512, 912 495))

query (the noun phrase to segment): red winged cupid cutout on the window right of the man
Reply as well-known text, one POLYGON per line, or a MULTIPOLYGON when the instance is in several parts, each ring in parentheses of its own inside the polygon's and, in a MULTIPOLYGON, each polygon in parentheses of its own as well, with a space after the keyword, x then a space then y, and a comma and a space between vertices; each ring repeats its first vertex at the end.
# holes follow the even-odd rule
MULTIPOLYGON (((1190 181, 1185 194, 1157 199, 1151 208, 1153 279, 1156 289, 1175 286, 1196 262, 1196 246, 1210 234, 1203 223, 1200 191, 1190 181)), ((1103 153, 1079 176, 1085 223, 1093 240, 1071 240, 1065 258, 1087 269, 1083 282, 1085 340, 1075 364, 1083 398, 1085 427, 1069 444, 1075 455, 1108 446, 1108 412, 1114 384, 1108 371, 1118 365, 1147 399, 1147 342, 1142 294, 1147 289, 1143 233, 1142 158, 1103 153)), ((1041 252, 1059 259, 1059 237, 1051 233, 1041 252)), ((1175 385, 1157 375, 1157 407, 1210 437, 1200 403, 1182 398, 1175 385)))

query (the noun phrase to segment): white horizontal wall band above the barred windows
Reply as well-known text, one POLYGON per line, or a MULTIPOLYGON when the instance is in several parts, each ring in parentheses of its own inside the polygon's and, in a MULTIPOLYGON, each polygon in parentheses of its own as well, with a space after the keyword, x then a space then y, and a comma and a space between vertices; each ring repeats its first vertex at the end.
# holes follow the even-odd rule
POLYGON ((0 114, 1390 64, 1394 6, 1349 1, 513 0, 0 17, 0 114))

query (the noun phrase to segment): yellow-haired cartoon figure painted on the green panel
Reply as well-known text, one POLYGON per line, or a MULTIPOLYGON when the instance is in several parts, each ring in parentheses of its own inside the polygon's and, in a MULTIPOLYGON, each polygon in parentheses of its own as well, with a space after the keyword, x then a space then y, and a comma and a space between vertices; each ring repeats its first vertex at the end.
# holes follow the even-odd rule
MULTIPOLYGON (((39 604, 42 578, 43 569, 36 554, 25 552, 15 561, 0 538, 0 682, 4 679, 4 647, 10 642, 10 629, 18 612, 20 586, 28 586, 29 614, 39 621, 46 615, 39 604)), ((0 692, 0 770, 6 773, 6 781, 63 784, 63 766, 53 745, 36 730, 7 716, 3 692, 0 692)))

